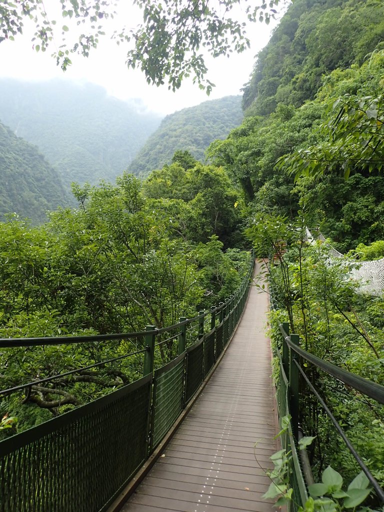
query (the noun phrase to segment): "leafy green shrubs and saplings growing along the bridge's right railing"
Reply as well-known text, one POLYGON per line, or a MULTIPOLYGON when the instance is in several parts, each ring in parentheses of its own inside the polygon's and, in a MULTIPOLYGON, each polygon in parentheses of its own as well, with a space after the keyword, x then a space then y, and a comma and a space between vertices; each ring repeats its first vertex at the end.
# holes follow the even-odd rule
MULTIPOLYGON (((270 314, 272 343, 281 350, 279 324, 289 322, 290 332, 300 335, 305 350, 381 383, 382 297, 359 293, 359 283, 351 279, 354 264, 349 259, 335 261, 329 257, 326 244, 307 243, 307 223, 304 211, 295 219, 265 214, 255 218, 247 230, 259 254, 271 254, 268 273, 274 305, 270 314)), ((256 285, 262 288, 258 281, 256 285)), ((304 363, 302 368, 375 478, 380 483, 384 481, 380 404, 365 399, 312 365, 304 363)), ((328 464, 337 467, 345 479, 353 478, 356 464, 305 386, 300 400, 300 424, 306 435, 315 437, 309 449, 314 478, 321 478, 328 464)), ((328 482, 323 479, 323 483, 328 482)), ((314 495, 316 487, 310 486, 309 490, 314 495)), ((322 487, 319 490, 322 495, 326 493, 322 487)))

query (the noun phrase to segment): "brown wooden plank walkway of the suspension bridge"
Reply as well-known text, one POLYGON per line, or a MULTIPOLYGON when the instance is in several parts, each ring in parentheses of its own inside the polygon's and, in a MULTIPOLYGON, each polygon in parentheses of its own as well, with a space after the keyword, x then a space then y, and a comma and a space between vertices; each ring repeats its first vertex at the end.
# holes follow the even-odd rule
POLYGON ((272 511, 262 499, 278 450, 267 310, 252 286, 218 368, 123 512, 272 511))

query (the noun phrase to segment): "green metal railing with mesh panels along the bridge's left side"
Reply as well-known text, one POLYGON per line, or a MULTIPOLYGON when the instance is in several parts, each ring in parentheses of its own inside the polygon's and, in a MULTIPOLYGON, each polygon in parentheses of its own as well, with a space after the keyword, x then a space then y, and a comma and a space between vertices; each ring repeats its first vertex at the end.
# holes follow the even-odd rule
MULTIPOLYGON (((142 377, 109 395, 0 442, 0 512, 101 512, 150 457, 209 375, 247 300, 254 255, 236 294, 209 312, 139 333, 0 339, 0 349, 135 340, 139 348, 110 359, 141 357, 142 377), (209 321, 209 322, 207 322, 209 321), (208 325, 209 329, 206 328, 208 325), (206 332, 207 331, 207 332, 206 332), (196 339, 197 338, 197 339, 196 339), (157 341, 159 340, 159 341, 157 341), (154 370, 161 347, 177 350, 154 370)), ((105 361, 90 365, 85 370, 105 361)), ((66 373, 0 391, 0 398, 50 385, 66 373)))

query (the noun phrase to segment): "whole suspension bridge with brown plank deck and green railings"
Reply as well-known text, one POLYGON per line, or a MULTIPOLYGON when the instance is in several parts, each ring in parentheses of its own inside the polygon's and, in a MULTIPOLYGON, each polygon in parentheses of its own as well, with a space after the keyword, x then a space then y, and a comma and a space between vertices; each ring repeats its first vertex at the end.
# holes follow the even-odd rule
MULTIPOLYGON (((280 417, 291 416, 281 439, 291 454, 291 508, 304 505, 311 475, 296 447, 301 387, 311 388, 311 382, 302 362, 381 404, 384 387, 309 354, 286 324, 275 348, 279 375, 273 385, 267 295, 251 286, 259 270, 252 261, 228 301, 163 329, 0 340, 3 354, 15 347, 135 340, 134 353, 87 369, 128 357, 141 357, 142 364, 142 376, 134 382, 0 442, 0 512, 271 511, 273 503, 262 496, 270 484, 269 457, 278 449, 278 410, 280 417), (156 364, 165 349, 169 362, 156 364)), ((2 390, 0 397, 28 398, 32 389, 76 372, 24 382, 2 390)), ((384 503, 380 485, 324 406, 384 503)))

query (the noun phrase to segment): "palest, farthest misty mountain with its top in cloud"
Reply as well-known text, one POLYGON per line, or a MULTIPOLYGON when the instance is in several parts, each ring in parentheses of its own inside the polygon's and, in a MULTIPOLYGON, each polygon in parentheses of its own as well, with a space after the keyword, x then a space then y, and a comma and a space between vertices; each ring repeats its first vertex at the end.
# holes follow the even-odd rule
POLYGON ((114 181, 158 127, 143 105, 94 84, 0 80, 0 119, 36 144, 66 185, 114 181))

